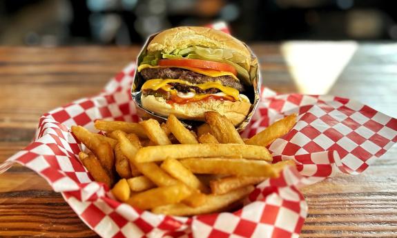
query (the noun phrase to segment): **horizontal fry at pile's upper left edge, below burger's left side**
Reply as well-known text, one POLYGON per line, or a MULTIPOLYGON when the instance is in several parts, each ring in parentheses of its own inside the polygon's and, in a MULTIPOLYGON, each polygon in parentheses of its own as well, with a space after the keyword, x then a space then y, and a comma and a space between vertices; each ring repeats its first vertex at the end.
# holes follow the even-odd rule
POLYGON ((144 128, 135 122, 126 121, 95 121, 95 128, 97 130, 104 130, 106 132, 113 132, 113 130, 122 130, 123 132, 134 133, 140 138, 148 138, 144 128))

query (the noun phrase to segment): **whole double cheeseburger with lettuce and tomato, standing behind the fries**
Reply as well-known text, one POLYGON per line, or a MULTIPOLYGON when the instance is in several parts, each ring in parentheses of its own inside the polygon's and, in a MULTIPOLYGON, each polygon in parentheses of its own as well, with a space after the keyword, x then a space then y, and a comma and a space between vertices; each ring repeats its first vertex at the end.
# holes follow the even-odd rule
POLYGON ((204 112, 217 111, 238 126, 252 110, 258 63, 229 34, 202 27, 164 30, 148 42, 138 64, 140 103, 155 115, 204 121, 204 112))

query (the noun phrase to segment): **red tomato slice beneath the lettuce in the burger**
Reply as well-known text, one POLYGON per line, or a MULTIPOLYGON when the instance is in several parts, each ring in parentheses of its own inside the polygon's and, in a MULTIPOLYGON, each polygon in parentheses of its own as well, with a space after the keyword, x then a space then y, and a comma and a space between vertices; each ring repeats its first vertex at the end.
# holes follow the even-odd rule
POLYGON ((227 63, 208 61, 202 59, 160 59, 159 66, 209 68, 211 70, 231 72, 237 76, 237 70, 227 63))

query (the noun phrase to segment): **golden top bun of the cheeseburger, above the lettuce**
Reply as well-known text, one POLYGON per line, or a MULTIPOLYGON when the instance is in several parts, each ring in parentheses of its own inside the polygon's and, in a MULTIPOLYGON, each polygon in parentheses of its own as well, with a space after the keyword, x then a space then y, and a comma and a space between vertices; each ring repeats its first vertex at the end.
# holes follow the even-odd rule
MULTIPOLYGON (((173 50, 182 50, 190 46, 204 46, 217 49, 232 49, 246 58, 244 68, 249 70, 251 52, 244 43, 220 30, 198 26, 180 26, 164 30, 148 44, 148 52, 162 51, 170 54, 173 50)), ((234 62, 238 63, 238 62, 234 62)))

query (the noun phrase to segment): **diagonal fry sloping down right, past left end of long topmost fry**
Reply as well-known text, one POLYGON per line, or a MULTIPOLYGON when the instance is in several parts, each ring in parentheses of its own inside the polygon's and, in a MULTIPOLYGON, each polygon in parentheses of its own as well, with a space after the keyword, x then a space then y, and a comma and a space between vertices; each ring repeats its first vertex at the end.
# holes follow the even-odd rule
MULTIPOLYGON (((154 184, 157 186, 172 186, 177 184, 177 180, 168 175, 164 170, 159 168, 156 163, 139 163, 136 161, 136 155, 138 148, 136 148, 133 143, 131 143, 126 135, 120 133, 119 134, 119 143, 120 147, 122 148, 123 154, 129 159, 130 163, 142 172, 148 179, 153 181, 154 184)), ((148 148, 148 147, 146 147, 148 148)), ((144 148, 140 149, 143 150, 144 148)))

